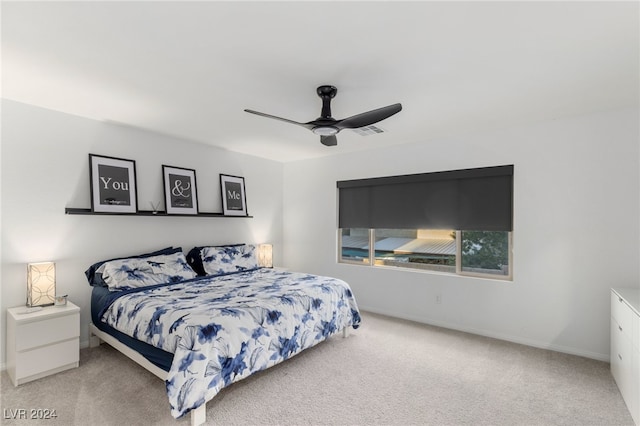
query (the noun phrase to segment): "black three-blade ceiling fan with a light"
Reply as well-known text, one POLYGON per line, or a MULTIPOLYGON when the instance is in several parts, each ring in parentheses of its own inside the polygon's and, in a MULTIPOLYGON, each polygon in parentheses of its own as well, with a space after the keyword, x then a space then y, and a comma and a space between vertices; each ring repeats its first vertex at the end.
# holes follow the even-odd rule
POLYGON ((326 146, 334 146, 338 144, 336 134, 343 129, 357 129, 359 127, 370 126, 373 123, 382 121, 385 118, 391 117, 402 110, 401 104, 393 104, 386 107, 374 109, 371 111, 363 112, 362 114, 353 115, 348 118, 336 120, 331 117, 331 99, 333 99, 338 93, 338 89, 334 86, 320 86, 316 90, 320 99, 322 99, 322 112, 320 117, 308 123, 299 123, 297 121, 289 120, 282 117, 276 117, 275 115, 265 114, 263 112, 253 111, 245 109, 246 112, 262 117, 273 118, 276 120, 284 121, 286 123, 297 124, 298 126, 306 127, 316 135, 320 135, 320 142, 326 146))

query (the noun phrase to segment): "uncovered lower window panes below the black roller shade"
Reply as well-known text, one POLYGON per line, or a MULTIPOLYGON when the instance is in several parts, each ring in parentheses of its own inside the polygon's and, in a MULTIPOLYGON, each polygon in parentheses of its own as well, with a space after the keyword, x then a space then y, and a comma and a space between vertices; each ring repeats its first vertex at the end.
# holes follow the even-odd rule
POLYGON ((347 228, 340 230, 340 247, 343 262, 510 276, 506 231, 347 228))

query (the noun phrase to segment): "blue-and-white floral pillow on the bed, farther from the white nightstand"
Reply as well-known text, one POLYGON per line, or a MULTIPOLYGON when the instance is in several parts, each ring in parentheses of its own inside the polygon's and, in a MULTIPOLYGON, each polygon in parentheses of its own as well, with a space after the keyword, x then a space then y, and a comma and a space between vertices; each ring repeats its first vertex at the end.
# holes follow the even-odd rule
POLYGON ((200 257, 207 275, 229 274, 258 268, 254 244, 203 247, 200 257))

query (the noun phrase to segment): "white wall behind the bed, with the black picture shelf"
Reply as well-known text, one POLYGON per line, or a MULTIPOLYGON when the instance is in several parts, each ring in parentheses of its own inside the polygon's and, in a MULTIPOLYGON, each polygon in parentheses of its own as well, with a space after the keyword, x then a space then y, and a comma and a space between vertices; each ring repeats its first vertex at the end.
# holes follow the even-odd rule
MULTIPOLYGON (((81 342, 88 338, 92 263, 169 245, 274 244, 282 259, 282 175, 279 162, 203 144, 2 102, 2 348, 6 308, 26 299, 26 264, 56 262, 57 293, 79 305, 81 342), (219 174, 244 176, 253 218, 74 216, 65 207, 91 207, 88 154, 136 160, 138 203, 164 200, 162 165, 196 170, 200 211, 222 211, 219 174)), ((164 202, 162 203, 164 206, 164 202)), ((4 363, 5 351, 2 353, 4 363)))

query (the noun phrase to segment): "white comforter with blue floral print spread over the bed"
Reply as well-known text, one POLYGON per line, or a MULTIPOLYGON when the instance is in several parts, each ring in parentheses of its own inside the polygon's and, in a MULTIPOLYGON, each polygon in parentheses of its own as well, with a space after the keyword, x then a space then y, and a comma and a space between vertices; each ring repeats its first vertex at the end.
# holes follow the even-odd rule
POLYGON ((225 386, 360 324, 344 281, 274 269, 123 292, 102 319, 174 354, 166 386, 175 418, 225 386))

